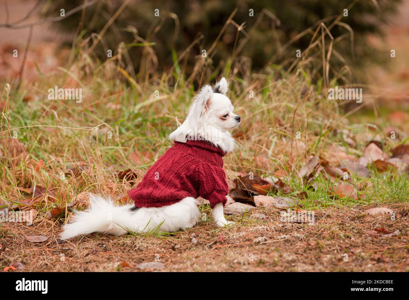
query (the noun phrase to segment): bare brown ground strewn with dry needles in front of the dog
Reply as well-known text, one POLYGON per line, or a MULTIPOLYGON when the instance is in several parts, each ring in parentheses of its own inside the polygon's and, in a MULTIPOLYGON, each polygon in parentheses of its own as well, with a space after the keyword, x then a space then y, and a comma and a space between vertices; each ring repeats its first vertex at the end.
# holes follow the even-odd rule
POLYGON ((399 218, 409 203, 388 207, 398 212, 395 220, 365 215, 368 207, 360 207, 315 211, 313 225, 281 222, 280 210, 267 207, 235 215, 236 225, 224 229, 209 220, 173 236, 92 234, 68 242, 58 240, 53 228, 59 227, 47 219, 31 226, 10 222, 0 240, 0 265, 24 271, 409 271, 409 216, 399 218), (376 228, 400 234, 364 233, 376 228), (25 239, 34 234, 49 239, 25 239))

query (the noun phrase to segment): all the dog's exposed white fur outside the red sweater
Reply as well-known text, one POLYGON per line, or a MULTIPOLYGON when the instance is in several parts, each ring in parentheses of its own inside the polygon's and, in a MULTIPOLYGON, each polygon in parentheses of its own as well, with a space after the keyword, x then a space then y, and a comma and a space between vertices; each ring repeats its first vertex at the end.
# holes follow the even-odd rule
MULTIPOLYGON (((228 84, 224 77, 216 83, 214 91, 220 93, 213 92, 210 85, 200 89, 193 99, 186 120, 170 134, 170 140, 186 142, 186 137, 194 133, 195 136, 207 137, 207 140, 223 151, 233 151, 234 139, 229 129, 238 126, 240 117, 233 113, 233 105, 226 97, 228 84), (224 117, 225 115, 227 116, 224 117)), ((150 232, 154 229, 174 232, 194 226, 200 218, 196 200, 192 197, 158 208, 142 207, 131 211, 133 207, 133 204, 116 206, 109 198, 91 195, 90 208, 76 212, 74 220, 64 225, 61 238, 68 239, 92 232, 117 236, 127 232, 150 232)), ((234 224, 226 221, 222 203, 216 204, 212 216, 220 227, 234 224)))

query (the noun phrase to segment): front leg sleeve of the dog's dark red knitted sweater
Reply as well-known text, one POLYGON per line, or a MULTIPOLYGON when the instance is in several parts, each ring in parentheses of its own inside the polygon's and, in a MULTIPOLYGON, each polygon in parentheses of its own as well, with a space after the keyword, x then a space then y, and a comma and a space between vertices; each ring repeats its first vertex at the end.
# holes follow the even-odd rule
POLYGON ((200 183, 200 197, 209 200, 211 208, 218 203, 223 203, 223 206, 225 206, 227 202, 226 195, 229 192, 225 171, 208 163, 199 164, 197 171, 200 183))

